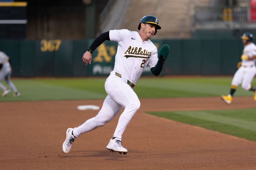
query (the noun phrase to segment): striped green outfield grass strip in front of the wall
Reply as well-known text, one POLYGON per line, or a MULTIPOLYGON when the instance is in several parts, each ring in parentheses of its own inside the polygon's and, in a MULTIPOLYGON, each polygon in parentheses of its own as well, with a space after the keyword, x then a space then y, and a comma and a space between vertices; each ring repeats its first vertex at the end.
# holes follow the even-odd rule
MULTIPOLYGON (((18 78, 12 79, 21 93, 12 92, 0 101, 104 99, 104 78, 18 78)), ((232 77, 142 77, 134 91, 139 98, 207 97, 228 94, 232 77)), ((2 83, 5 85, 4 81, 2 83)), ((256 85, 256 81, 253 81, 256 85)), ((2 91, 1 91, 2 93, 2 91)), ((252 96, 238 87, 236 96, 252 96)))

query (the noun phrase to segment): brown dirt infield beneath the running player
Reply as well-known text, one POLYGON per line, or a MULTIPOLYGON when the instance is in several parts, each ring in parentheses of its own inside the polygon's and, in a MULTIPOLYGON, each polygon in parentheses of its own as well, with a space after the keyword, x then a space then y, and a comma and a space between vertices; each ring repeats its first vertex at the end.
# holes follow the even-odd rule
POLYGON ((103 100, 2 102, 0 169, 256 169, 256 142, 144 113, 252 108, 252 98, 236 97, 231 105, 219 97, 140 101, 123 135, 126 155, 106 149, 120 114, 62 153, 66 129, 97 114, 76 107, 101 107, 103 100))

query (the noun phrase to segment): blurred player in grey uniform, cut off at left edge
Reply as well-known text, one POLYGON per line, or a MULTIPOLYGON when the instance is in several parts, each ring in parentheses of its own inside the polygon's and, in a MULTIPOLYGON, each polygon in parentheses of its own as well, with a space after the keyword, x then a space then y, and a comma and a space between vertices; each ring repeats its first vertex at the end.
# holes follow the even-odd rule
MULTIPOLYGON (((10 64, 10 58, 2 51, 0 51, 0 82, 5 79, 6 84, 13 90, 14 97, 20 96, 15 85, 10 80, 12 74, 12 68, 10 64)), ((0 83, 0 88, 3 89, 2 97, 6 96, 11 92, 10 89, 6 88, 2 83, 0 83)))

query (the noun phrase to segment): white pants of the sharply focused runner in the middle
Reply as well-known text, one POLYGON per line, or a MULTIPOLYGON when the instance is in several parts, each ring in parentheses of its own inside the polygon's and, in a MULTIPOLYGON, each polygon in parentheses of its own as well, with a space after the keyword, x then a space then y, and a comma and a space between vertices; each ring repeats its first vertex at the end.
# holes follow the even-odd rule
POLYGON ((89 132, 111 121, 119 111, 125 107, 120 115, 113 137, 122 138, 125 128, 131 121, 133 115, 140 108, 140 100, 137 94, 122 78, 110 74, 105 82, 105 90, 108 96, 103 102, 98 115, 88 119, 82 125, 73 130, 75 137, 89 132))

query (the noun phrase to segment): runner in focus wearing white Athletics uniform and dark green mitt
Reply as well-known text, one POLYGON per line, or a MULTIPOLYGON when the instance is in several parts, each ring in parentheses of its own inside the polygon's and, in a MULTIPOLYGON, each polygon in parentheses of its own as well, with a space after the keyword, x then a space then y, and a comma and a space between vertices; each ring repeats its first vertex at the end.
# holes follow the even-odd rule
POLYGON ((110 30, 100 34, 83 55, 85 65, 91 64, 93 51, 104 41, 118 42, 115 57, 114 70, 105 82, 105 90, 108 96, 103 102, 98 115, 87 120, 77 128, 68 128, 66 139, 62 145, 62 151, 68 153, 74 140, 81 134, 89 132, 111 121, 118 112, 125 107, 120 115, 116 130, 110 139, 107 149, 112 152, 126 154, 128 151, 122 146, 122 134, 132 119, 132 116, 140 108, 140 100, 133 91, 137 80, 140 78, 146 65, 151 72, 158 76, 163 68, 170 48, 164 45, 159 56, 156 46, 149 40, 161 27, 155 16, 147 15, 140 19, 139 32, 122 30, 110 30))

